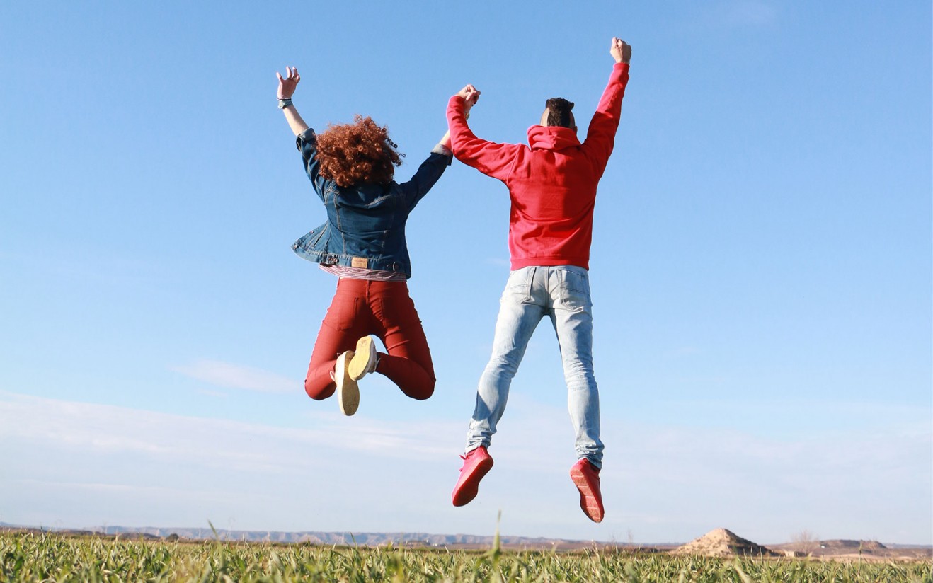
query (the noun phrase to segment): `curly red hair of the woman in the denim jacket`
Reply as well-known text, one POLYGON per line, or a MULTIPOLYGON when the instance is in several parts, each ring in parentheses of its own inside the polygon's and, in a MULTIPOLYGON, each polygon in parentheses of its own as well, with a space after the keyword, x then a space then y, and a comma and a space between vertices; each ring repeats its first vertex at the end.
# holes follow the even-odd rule
POLYGON ((320 173, 341 187, 386 184, 402 163, 397 147, 388 128, 357 114, 354 123, 329 124, 317 136, 320 173))

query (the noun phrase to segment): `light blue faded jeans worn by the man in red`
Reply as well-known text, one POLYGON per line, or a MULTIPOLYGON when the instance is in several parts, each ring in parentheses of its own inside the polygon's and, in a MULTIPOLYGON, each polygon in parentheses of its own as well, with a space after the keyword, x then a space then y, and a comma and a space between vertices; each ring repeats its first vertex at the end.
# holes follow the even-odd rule
POLYGON ((466 451, 489 447, 508 401, 508 387, 538 322, 550 316, 564 361, 567 407, 578 458, 603 466, 599 439, 599 390, 592 374, 590 275, 572 265, 511 271, 499 300, 493 355, 480 377, 476 409, 466 434, 466 451))

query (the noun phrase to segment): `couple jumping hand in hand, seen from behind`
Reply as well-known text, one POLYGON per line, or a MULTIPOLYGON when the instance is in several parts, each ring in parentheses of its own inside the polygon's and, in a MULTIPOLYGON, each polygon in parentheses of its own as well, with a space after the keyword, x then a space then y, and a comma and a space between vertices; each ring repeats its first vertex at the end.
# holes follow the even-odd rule
POLYGON ((371 118, 330 125, 315 133, 291 97, 298 70, 279 78, 279 107, 297 136, 305 172, 324 203, 327 222, 292 245, 294 251, 338 276, 337 292, 314 343, 304 388, 313 399, 336 393, 345 415, 359 403, 358 382, 379 373, 415 399, 434 392, 435 376, 425 331, 409 295, 411 260, 405 223, 415 205, 453 158, 501 180, 511 200, 508 251, 511 267, 495 322, 493 354, 480 376, 453 506, 476 495, 493 466, 488 448, 508 399, 508 387, 537 324, 550 318, 564 364, 578 462, 570 477, 580 507, 603 520, 599 471, 599 393, 592 367, 589 260, 596 186, 606 169, 619 127, 632 48, 613 38, 615 64, 580 142, 574 104, 549 99, 528 145, 478 138, 466 123, 480 91, 467 85, 447 104, 449 131, 411 180, 393 180, 401 164, 385 127, 371 118), (379 352, 373 336, 382 341, 379 352))

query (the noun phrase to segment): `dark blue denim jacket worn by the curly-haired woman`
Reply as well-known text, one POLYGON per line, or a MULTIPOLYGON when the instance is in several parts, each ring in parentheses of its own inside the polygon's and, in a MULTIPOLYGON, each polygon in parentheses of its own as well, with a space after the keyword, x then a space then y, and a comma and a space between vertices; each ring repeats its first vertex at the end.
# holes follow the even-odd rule
POLYGON ((327 209, 327 222, 293 243, 295 253, 313 263, 401 271, 411 277, 405 222, 444 174, 452 156, 439 153, 436 147, 408 182, 344 188, 318 173, 312 129, 302 132, 296 145, 314 192, 327 209))

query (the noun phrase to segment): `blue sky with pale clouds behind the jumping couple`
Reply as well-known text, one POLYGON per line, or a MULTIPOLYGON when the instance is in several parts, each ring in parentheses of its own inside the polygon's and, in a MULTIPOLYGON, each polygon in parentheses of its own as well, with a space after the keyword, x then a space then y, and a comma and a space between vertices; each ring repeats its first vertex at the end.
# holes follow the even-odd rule
MULTIPOLYGON (((931 7, 767 1, 0 5, 0 521, 686 541, 933 543, 931 7), (450 504, 508 275, 508 196, 454 162, 411 215, 438 375, 304 395, 335 280, 275 107, 582 127, 634 47, 591 280, 606 521, 567 476, 539 327, 480 496, 450 504)), ((546 323, 545 323, 546 324, 546 323)))

